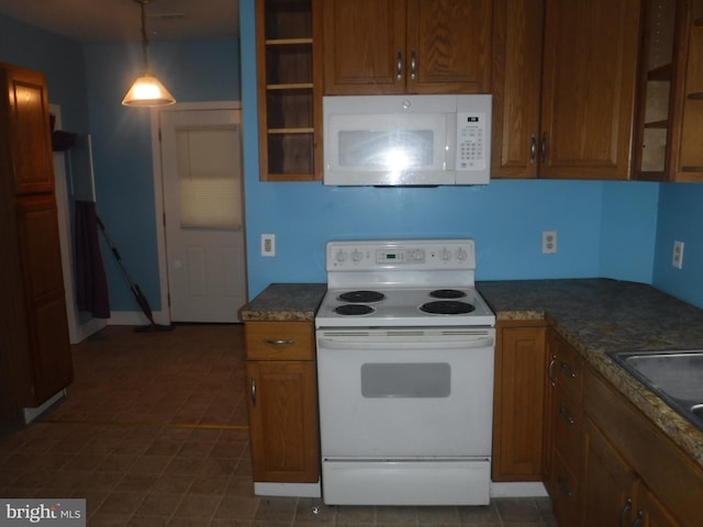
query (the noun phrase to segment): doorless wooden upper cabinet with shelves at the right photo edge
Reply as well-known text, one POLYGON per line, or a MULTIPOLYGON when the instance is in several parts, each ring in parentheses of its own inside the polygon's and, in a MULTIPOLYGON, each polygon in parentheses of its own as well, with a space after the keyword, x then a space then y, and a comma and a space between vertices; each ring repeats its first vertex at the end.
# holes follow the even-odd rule
POLYGON ((634 177, 703 181, 703 0, 645 0, 634 177))

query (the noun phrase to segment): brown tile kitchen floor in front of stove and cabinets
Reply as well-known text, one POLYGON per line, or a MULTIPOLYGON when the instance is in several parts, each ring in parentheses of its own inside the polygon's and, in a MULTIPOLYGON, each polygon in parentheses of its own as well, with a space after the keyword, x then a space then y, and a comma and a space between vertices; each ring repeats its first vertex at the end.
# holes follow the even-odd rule
POLYGON ((0 436, 0 496, 82 497, 88 525, 556 525, 547 498, 342 507, 253 494, 238 325, 109 326, 74 347, 68 396, 0 436))

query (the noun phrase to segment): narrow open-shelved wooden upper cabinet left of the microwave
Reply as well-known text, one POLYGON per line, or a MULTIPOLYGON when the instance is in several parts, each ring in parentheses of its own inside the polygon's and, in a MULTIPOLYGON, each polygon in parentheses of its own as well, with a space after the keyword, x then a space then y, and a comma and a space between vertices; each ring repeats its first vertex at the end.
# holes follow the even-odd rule
POLYGON ((257 0, 259 171, 322 179, 320 0, 257 0))

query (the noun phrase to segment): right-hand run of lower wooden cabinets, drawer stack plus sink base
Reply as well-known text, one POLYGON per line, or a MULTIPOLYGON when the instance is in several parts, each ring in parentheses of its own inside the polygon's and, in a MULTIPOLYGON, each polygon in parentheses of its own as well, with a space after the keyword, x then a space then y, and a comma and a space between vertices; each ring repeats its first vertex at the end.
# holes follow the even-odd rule
POLYGON ((703 525, 701 467, 551 329, 546 352, 544 482, 558 525, 703 525))

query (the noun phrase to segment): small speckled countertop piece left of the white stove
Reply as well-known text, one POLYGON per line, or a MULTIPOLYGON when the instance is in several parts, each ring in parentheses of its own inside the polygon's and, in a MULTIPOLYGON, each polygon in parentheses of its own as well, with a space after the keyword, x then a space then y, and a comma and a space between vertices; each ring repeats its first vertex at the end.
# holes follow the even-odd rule
POLYGON ((239 310, 239 318, 244 322, 313 322, 325 291, 325 283, 271 283, 239 310))

